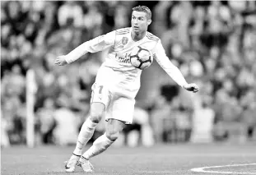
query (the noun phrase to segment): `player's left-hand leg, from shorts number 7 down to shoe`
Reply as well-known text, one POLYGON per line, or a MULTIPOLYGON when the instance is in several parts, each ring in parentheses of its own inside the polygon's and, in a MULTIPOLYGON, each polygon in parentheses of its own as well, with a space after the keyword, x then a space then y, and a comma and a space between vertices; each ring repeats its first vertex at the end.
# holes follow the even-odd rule
POLYGON ((91 94, 90 116, 83 123, 77 138, 77 145, 71 158, 67 161, 66 172, 74 172, 78 160, 81 157, 82 148, 91 139, 96 125, 100 122, 105 112, 105 107, 109 104, 109 90, 103 86, 94 86, 91 94))

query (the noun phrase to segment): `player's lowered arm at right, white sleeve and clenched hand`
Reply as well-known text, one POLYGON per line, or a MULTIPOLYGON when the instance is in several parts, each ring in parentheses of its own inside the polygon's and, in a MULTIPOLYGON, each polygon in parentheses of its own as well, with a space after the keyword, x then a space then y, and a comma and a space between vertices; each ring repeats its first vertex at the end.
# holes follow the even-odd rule
POLYGON ((165 54, 165 48, 161 44, 161 40, 158 41, 156 47, 153 49, 153 56, 156 62, 165 70, 165 72, 181 87, 185 90, 198 92, 198 85, 195 83, 188 83, 179 68, 176 67, 165 54))

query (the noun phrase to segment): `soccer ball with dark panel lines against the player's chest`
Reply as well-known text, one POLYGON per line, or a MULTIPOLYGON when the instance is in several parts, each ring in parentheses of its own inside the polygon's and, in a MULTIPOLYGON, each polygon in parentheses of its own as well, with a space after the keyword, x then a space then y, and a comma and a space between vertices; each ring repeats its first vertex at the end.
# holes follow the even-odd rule
POLYGON ((137 46, 133 48, 132 53, 130 54, 130 61, 133 67, 138 69, 146 69, 151 66, 153 62, 152 53, 147 50, 147 48, 142 48, 137 46))

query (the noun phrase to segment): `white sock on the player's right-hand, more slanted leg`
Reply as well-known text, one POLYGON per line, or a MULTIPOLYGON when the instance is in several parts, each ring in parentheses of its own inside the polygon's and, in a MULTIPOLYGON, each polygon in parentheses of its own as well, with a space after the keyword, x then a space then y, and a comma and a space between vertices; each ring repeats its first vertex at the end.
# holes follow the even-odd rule
POLYGON ((103 151, 107 150, 107 148, 109 148, 109 145, 113 143, 114 141, 109 140, 108 137, 104 134, 93 142, 91 148, 89 150, 86 150, 86 152, 82 154, 82 157, 84 157, 85 159, 90 159, 91 157, 94 157, 95 155, 98 155, 103 151))

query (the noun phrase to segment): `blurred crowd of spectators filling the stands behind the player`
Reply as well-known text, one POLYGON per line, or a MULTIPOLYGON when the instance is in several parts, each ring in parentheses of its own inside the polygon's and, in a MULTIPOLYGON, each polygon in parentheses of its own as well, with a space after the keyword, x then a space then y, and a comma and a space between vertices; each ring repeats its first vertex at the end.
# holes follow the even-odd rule
MULTIPOLYGON (((140 118, 137 111, 143 111, 146 119, 135 119, 139 127, 128 131, 141 133, 146 126, 156 142, 255 140, 255 1, 1 1, 1 133, 6 132, 9 143, 26 143, 29 69, 35 71, 37 142, 76 142, 105 51, 87 53, 68 67, 55 66, 54 58, 88 39, 128 27, 131 8, 137 5, 151 8, 149 31, 201 90, 188 94, 167 76, 160 84, 152 80, 156 93, 140 98, 134 114, 140 118)), ((157 71, 155 65, 148 69, 157 71)))

